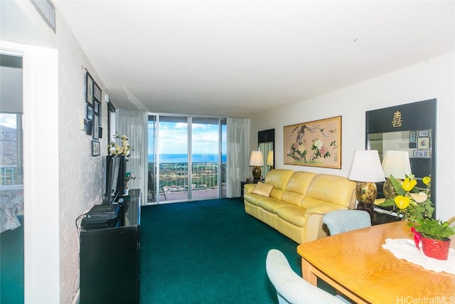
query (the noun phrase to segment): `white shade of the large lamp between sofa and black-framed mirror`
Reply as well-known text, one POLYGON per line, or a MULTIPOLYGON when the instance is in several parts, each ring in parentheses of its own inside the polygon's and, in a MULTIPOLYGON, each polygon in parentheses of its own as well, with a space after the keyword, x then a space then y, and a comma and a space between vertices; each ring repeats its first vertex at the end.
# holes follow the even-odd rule
POLYGON ((354 151, 348 179, 355 182, 384 182, 378 150, 354 151))

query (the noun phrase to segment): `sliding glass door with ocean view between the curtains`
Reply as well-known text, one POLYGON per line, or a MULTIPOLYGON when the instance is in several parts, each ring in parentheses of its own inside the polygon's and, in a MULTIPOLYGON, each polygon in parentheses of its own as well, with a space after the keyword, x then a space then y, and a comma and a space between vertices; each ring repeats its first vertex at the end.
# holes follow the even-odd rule
POLYGON ((149 115, 148 203, 225 196, 225 133, 225 119, 149 115))

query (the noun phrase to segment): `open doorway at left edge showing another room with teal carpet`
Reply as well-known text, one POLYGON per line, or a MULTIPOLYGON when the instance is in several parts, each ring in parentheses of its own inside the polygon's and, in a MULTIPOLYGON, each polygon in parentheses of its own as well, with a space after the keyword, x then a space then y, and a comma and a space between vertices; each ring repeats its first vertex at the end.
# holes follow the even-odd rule
POLYGON ((23 303, 22 58, 0 54, 0 75, 0 303, 23 303))

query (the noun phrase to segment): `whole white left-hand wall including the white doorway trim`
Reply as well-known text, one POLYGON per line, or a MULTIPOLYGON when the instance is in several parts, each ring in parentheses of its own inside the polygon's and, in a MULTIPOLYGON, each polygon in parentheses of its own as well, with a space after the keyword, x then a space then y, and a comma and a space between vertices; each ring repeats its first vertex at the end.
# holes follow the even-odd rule
MULTIPOLYGON (((16 51, 24 61, 26 303, 73 303, 79 288, 75 219, 100 204, 105 186, 105 158, 92 157, 92 137, 80 130, 85 117, 83 68, 103 98, 107 92, 58 11, 55 34, 43 26, 30 1, 7 2, 1 1, 0 51, 16 51), (4 16, 14 23, 4 26, 4 16)), ((102 101, 104 156, 107 104, 102 101)))

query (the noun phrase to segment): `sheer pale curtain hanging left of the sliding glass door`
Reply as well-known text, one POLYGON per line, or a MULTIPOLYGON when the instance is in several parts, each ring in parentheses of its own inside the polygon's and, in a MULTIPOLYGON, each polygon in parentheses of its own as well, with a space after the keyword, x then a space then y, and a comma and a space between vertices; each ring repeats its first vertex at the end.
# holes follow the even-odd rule
POLYGON ((133 110, 117 110, 116 130, 119 135, 127 135, 132 148, 128 157, 127 172, 136 175, 130 180, 130 189, 141 189, 141 204, 146 204, 147 192, 147 113, 133 110))

